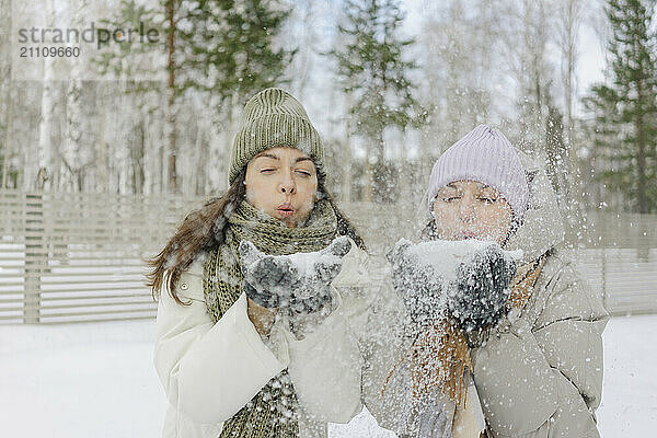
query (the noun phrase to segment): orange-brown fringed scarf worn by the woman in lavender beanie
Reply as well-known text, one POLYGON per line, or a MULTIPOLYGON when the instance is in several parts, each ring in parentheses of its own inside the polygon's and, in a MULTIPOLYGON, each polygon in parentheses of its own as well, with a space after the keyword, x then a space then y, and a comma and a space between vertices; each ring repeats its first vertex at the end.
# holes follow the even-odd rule
MULTIPOLYGON (((519 268, 511 280, 509 309, 522 309, 531 297, 545 257, 519 268)), ((465 405, 468 378, 472 370, 470 347, 463 332, 449 318, 424 328, 415 337, 411 349, 391 371, 389 379, 404 361, 410 362, 413 400, 439 390, 457 405, 465 405)))

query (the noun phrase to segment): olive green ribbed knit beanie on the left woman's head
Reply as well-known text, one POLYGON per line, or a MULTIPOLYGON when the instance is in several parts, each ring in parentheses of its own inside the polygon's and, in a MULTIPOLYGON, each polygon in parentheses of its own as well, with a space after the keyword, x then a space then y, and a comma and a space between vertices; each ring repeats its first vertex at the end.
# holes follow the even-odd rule
POLYGON ((229 184, 255 155, 279 147, 301 150, 312 158, 318 174, 324 174, 324 147, 303 106, 287 91, 266 89, 251 97, 244 106, 233 141, 229 184))

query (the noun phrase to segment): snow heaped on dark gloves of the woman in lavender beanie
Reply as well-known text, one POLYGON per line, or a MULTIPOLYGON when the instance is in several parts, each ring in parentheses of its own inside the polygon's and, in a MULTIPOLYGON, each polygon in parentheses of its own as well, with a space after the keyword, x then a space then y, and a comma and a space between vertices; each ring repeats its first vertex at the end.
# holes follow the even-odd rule
POLYGON ((521 251, 496 242, 401 239, 388 254, 392 281, 413 325, 451 315, 468 333, 494 325, 505 312, 521 251))

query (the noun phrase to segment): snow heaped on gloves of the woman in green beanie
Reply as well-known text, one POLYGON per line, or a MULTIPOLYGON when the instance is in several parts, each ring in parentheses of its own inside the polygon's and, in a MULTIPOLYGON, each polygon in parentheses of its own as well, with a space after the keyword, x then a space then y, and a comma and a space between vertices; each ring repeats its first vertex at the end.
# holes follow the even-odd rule
POLYGON ((313 313, 332 301, 331 281, 351 249, 346 237, 311 253, 267 255, 249 241, 240 242, 244 291, 257 304, 286 309, 290 314, 313 313))

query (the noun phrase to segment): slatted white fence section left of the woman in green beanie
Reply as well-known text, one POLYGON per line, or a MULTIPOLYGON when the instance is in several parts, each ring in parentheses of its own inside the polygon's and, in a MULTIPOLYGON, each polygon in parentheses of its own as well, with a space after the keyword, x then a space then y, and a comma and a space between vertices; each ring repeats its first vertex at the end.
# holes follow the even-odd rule
POLYGON ((143 257, 200 199, 0 194, 0 322, 154 316, 143 257))

